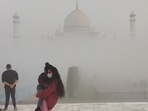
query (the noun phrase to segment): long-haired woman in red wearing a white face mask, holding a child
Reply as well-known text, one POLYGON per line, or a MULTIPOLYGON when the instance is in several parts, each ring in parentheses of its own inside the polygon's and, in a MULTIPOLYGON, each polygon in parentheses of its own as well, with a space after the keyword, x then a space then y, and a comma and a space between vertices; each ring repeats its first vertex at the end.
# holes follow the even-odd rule
POLYGON ((51 110, 58 99, 65 96, 64 85, 56 67, 47 65, 45 73, 47 79, 45 89, 36 94, 36 97, 44 99, 47 103, 47 109, 51 110))

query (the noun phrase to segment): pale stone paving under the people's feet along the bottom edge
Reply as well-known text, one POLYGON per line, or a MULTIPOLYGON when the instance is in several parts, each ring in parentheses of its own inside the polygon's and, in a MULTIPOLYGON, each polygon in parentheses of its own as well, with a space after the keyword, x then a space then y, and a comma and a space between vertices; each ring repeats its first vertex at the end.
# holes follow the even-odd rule
MULTIPOLYGON (((36 105, 17 105, 17 107, 18 111, 34 111, 36 105)), ((12 105, 9 105, 7 111, 13 111, 12 105)), ((148 103, 58 103, 52 111, 148 111, 148 103)))

